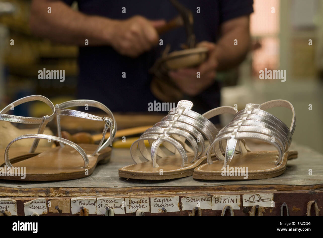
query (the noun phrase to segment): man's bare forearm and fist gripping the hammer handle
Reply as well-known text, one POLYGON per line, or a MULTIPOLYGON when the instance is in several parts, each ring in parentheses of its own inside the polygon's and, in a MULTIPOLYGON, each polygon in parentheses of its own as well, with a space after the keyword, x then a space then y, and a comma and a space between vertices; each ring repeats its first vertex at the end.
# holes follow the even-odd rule
POLYGON ((108 45, 131 57, 157 44, 159 39, 156 28, 166 24, 165 20, 152 21, 140 16, 116 20, 86 15, 74 11, 60 0, 33 0, 29 22, 32 32, 37 36, 79 46, 85 46, 85 40, 89 40, 89 46, 108 45), (48 6, 52 8, 51 14, 47 13, 48 6))

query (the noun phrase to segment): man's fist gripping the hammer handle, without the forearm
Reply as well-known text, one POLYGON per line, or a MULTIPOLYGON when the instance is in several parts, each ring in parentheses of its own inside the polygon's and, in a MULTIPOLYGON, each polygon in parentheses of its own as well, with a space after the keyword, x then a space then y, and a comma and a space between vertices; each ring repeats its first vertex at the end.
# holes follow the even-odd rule
POLYGON ((156 28, 165 24, 165 20, 152 21, 141 16, 117 20, 114 22, 110 43, 120 54, 137 57, 158 43, 156 28))

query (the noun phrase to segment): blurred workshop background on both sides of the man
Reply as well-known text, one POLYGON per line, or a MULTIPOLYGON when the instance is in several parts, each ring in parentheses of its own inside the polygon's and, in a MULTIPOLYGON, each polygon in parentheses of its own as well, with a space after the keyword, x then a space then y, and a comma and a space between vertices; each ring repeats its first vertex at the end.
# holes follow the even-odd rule
MULTIPOLYGON (((45 95, 54 105, 76 95, 78 47, 34 37, 28 25, 30 2, 0 0, 0 108, 32 94, 45 95), (13 46, 11 39, 15 39, 13 46), (37 72, 43 68, 65 70, 65 81, 38 79, 37 72)), ((73 8, 77 9, 77 3, 73 8)), ((297 117, 293 141, 319 152, 323 152, 322 18, 323 0, 254 0, 250 25, 252 50, 237 69, 221 72, 217 77, 227 85, 222 88, 222 105, 237 104, 241 110, 251 102, 273 99, 292 102, 297 117), (286 82, 259 79, 259 71, 265 68, 286 70, 286 82), (312 110, 308 109, 309 104, 312 110)), ((46 106, 40 105, 30 103, 15 114, 43 115, 46 106)), ((290 124, 289 111, 282 108, 270 112, 290 124)), ((131 125, 126 119, 120 119, 121 122, 116 119, 118 128, 148 123, 142 118, 132 118, 131 125)), ((228 118, 222 121, 225 123, 228 118)))

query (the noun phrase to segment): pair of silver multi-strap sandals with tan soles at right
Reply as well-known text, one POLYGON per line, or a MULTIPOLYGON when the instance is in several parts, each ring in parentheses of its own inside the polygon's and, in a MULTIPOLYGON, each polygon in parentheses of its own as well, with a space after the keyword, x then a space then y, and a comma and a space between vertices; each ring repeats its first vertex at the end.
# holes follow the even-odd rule
POLYGON ((233 107, 218 107, 203 115, 192 107, 191 101, 179 101, 166 117, 146 130, 130 148, 136 164, 120 168, 119 176, 151 180, 192 175, 207 180, 262 179, 281 175, 287 160, 297 158, 296 151, 288 151, 296 119, 293 105, 286 100, 250 103, 239 112, 233 107), (265 111, 273 107, 292 111, 290 128, 265 111), (223 113, 234 117, 219 131, 209 119, 223 113), (276 151, 252 152, 246 140, 267 142, 276 151))

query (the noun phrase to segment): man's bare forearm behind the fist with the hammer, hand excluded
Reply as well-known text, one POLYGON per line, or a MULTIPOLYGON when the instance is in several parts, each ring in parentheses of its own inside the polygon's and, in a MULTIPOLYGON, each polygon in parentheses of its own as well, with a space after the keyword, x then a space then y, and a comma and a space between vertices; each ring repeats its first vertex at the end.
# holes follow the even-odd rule
POLYGON ((114 20, 87 16, 71 9, 61 1, 33 0, 31 5, 30 27, 40 37, 53 41, 84 45, 109 45, 114 20), (51 7, 51 13, 47 8, 51 7))

